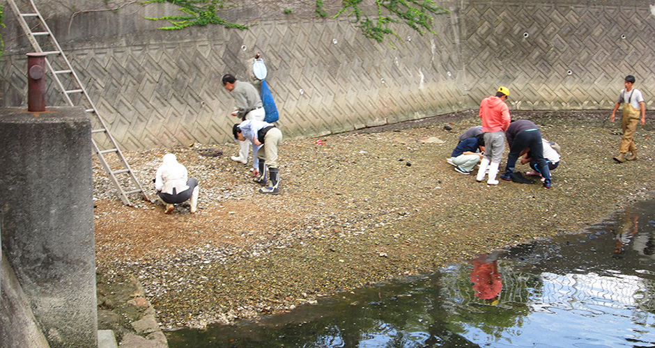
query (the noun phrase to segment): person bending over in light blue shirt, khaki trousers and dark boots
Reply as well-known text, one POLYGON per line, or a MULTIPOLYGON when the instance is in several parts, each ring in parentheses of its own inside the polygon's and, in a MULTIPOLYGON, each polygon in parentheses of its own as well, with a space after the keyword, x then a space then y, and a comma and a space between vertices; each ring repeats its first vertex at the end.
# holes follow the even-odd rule
POLYGON ((234 139, 249 140, 255 145, 253 156, 259 158, 259 168, 255 171, 254 182, 263 188, 259 193, 279 194, 279 166, 277 164, 277 147, 282 143, 282 132, 271 123, 260 120, 245 120, 232 127, 234 139), (259 150, 255 150, 260 146, 259 150), (269 181, 266 180, 268 171, 269 181))

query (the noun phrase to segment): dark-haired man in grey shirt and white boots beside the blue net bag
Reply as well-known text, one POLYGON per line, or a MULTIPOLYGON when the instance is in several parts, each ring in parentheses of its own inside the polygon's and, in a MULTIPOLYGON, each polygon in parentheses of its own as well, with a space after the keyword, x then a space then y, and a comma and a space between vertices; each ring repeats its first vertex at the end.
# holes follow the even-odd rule
MULTIPOLYGON (((230 91, 234 97, 237 109, 232 111, 231 115, 245 120, 259 120, 263 121, 266 113, 261 102, 261 97, 257 88, 248 82, 238 81, 236 77, 231 74, 224 74, 222 78, 223 87, 230 91)), ((250 142, 242 141, 240 144, 238 156, 232 156, 233 161, 241 162, 242 164, 248 163, 248 152, 250 151, 250 142)), ((259 167, 257 159, 257 150, 259 146, 252 147, 252 168, 254 171, 259 167)), ((255 173, 257 174, 257 173, 255 173)))

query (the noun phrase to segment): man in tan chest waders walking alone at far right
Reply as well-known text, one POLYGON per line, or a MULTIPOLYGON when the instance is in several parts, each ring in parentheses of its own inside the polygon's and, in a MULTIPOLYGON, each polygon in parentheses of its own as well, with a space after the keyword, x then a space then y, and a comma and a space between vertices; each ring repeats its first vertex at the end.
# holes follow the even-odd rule
POLYGON ((635 85, 635 77, 632 75, 626 76, 624 90, 621 90, 619 101, 615 104, 612 110, 610 121, 614 122, 619 106, 623 105, 623 118, 621 127, 623 129, 623 138, 621 139, 621 147, 619 148, 619 156, 614 157, 617 163, 624 161, 634 161, 637 159, 637 147, 635 146, 635 131, 637 130, 637 122, 639 122, 639 114, 641 111, 641 125, 646 124, 646 104, 644 104, 644 97, 641 91, 633 88, 635 85), (626 153, 630 151, 632 155, 626 157, 626 153))

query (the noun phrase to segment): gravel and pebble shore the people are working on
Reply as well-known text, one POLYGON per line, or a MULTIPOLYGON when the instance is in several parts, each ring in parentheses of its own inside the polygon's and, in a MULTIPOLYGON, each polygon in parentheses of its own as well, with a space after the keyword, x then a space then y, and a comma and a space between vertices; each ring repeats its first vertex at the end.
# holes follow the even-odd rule
POLYGON ((473 112, 326 136, 322 144, 284 141, 279 196, 256 193, 248 166, 229 159, 236 143, 125 152, 151 198, 162 156, 176 154, 199 180, 200 209, 180 205, 164 215, 155 203, 125 206, 94 163, 98 287, 134 274, 164 329, 203 327, 580 232, 655 189, 653 115, 635 136, 639 159, 624 164, 612 161, 621 130, 609 116, 512 112, 561 145, 551 189, 490 187, 456 173, 445 159, 459 134, 479 124, 473 112))

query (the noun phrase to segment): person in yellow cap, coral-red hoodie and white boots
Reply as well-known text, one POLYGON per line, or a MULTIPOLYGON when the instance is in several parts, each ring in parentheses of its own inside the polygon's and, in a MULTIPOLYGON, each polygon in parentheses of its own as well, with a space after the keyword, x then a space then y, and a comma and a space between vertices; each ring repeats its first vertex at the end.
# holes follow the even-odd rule
POLYGON ((484 158, 480 161, 480 168, 477 172, 477 182, 482 182, 485 172, 489 168, 487 184, 498 185, 496 175, 498 166, 502 159, 502 151, 505 149, 504 131, 509 127, 511 117, 509 107, 505 100, 509 97, 509 90, 505 87, 498 88, 496 95, 484 98, 480 103, 480 118, 482 118, 482 132, 484 132, 484 158))

